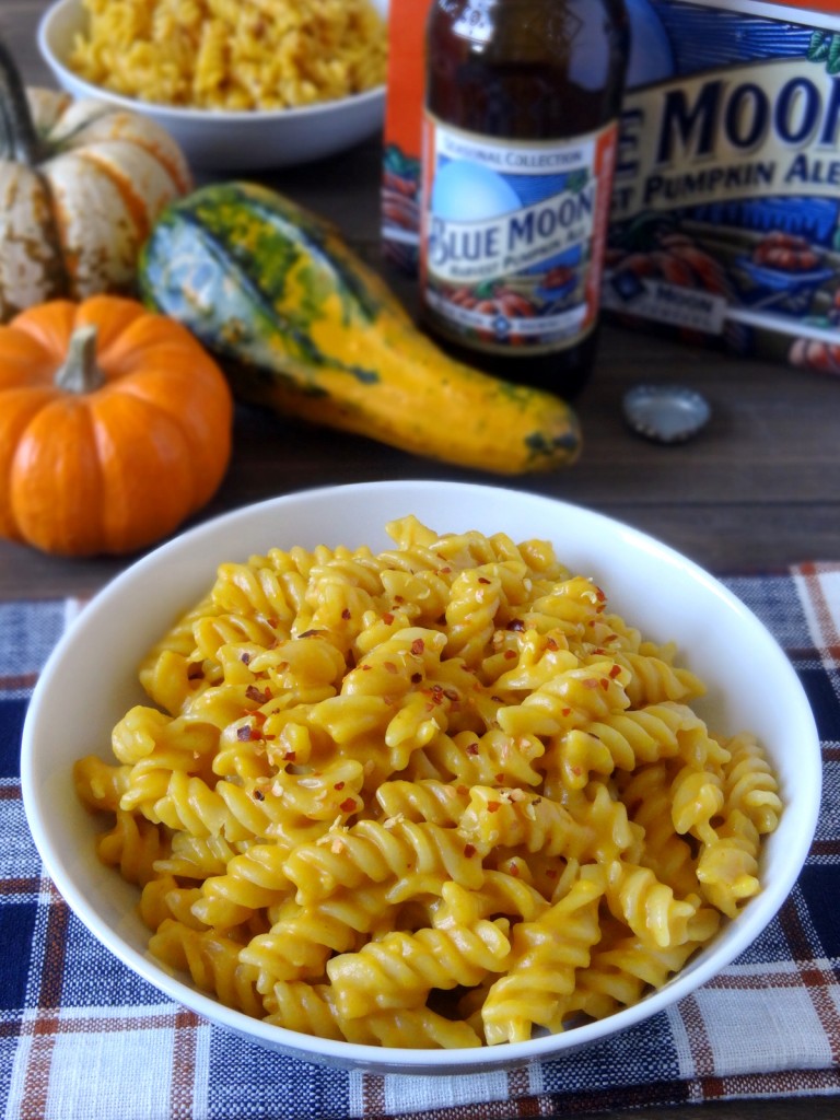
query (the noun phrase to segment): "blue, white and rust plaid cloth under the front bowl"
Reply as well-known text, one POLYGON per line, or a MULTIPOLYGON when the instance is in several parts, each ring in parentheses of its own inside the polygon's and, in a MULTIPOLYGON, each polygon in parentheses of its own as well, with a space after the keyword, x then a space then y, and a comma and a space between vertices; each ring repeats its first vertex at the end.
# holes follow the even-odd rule
POLYGON ((2 1116, 510 1120, 840 1093, 840 564, 725 582, 787 651, 820 728, 823 805, 797 886, 748 952, 670 1010, 557 1061, 454 1079, 267 1053, 172 1005, 99 945, 45 877, 20 797, 27 700, 75 605, 0 604, 2 1116))

